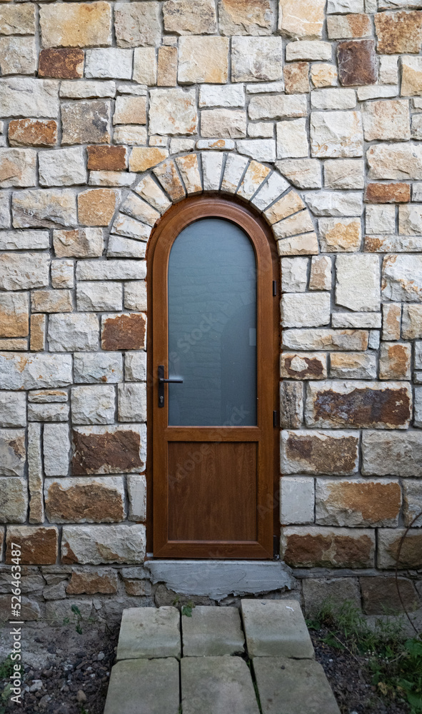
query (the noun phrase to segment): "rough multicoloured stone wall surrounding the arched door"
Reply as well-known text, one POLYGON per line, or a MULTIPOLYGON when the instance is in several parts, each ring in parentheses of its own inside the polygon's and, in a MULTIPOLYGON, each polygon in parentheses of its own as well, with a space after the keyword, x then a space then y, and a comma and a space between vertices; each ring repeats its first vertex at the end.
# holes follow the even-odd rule
POLYGON ((0 568, 21 543, 36 616, 151 596, 144 258, 202 191, 281 256, 281 558, 308 598, 391 583, 422 508, 418 8, 0 2, 0 568))

